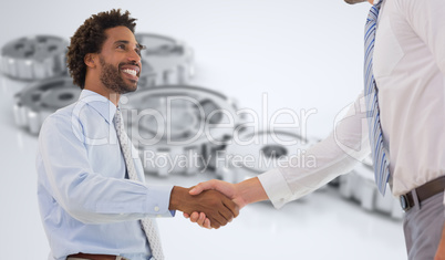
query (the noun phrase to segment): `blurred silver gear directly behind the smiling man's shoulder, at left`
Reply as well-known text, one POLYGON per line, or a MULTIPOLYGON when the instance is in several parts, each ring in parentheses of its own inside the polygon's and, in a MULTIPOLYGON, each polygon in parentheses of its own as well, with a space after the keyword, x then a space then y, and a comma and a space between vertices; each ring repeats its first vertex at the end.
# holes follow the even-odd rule
POLYGON ((69 76, 46 79, 15 94, 15 124, 31 134, 39 134, 46 116, 77 101, 81 90, 72 81, 69 76))

